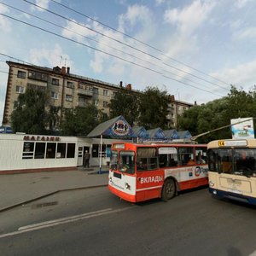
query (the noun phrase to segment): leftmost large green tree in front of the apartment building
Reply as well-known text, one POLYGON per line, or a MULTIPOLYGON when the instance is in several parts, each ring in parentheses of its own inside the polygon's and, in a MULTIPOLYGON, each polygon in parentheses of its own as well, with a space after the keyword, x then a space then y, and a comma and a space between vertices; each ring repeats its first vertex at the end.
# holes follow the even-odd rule
POLYGON ((27 88, 24 94, 18 96, 15 110, 11 114, 11 126, 14 132, 44 134, 47 126, 48 104, 47 90, 27 88))

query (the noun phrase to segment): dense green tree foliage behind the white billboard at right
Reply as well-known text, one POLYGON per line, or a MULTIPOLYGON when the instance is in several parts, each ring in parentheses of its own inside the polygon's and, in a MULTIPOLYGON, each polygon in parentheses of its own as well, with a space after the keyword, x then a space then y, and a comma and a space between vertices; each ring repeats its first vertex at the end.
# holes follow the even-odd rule
MULTIPOLYGON (((255 89, 255 88, 254 88, 255 89)), ((179 120, 180 130, 189 130, 193 136, 230 125, 230 119, 256 117, 255 90, 248 93, 231 86, 228 96, 189 108, 179 120)), ((255 126, 255 125, 254 125, 255 126)), ((230 127, 211 132, 198 139, 208 143, 214 139, 230 138, 230 127)))

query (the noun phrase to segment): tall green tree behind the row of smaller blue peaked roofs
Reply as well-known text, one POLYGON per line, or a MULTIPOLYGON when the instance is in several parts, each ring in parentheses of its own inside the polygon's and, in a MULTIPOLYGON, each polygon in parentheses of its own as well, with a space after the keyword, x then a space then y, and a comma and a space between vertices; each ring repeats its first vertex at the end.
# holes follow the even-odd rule
POLYGON ((145 129, 168 128, 166 115, 169 102, 170 96, 166 90, 147 87, 140 96, 138 124, 143 125, 145 129))

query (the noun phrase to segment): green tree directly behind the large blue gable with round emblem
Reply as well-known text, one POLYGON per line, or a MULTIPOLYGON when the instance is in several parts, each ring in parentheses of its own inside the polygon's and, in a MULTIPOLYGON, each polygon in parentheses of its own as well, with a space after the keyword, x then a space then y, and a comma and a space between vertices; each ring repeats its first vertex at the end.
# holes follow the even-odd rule
POLYGON ((130 91, 117 92, 108 104, 110 118, 122 115, 129 125, 134 125, 138 117, 138 96, 130 91))

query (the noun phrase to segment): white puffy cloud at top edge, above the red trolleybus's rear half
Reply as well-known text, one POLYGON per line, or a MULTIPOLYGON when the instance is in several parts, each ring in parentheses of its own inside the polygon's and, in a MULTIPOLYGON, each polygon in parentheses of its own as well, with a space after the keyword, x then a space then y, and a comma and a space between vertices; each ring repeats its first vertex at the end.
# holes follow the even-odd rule
POLYGON ((204 24, 214 6, 211 1, 201 3, 201 0, 196 0, 183 9, 166 10, 164 19, 166 23, 177 26, 178 33, 190 35, 204 24))

